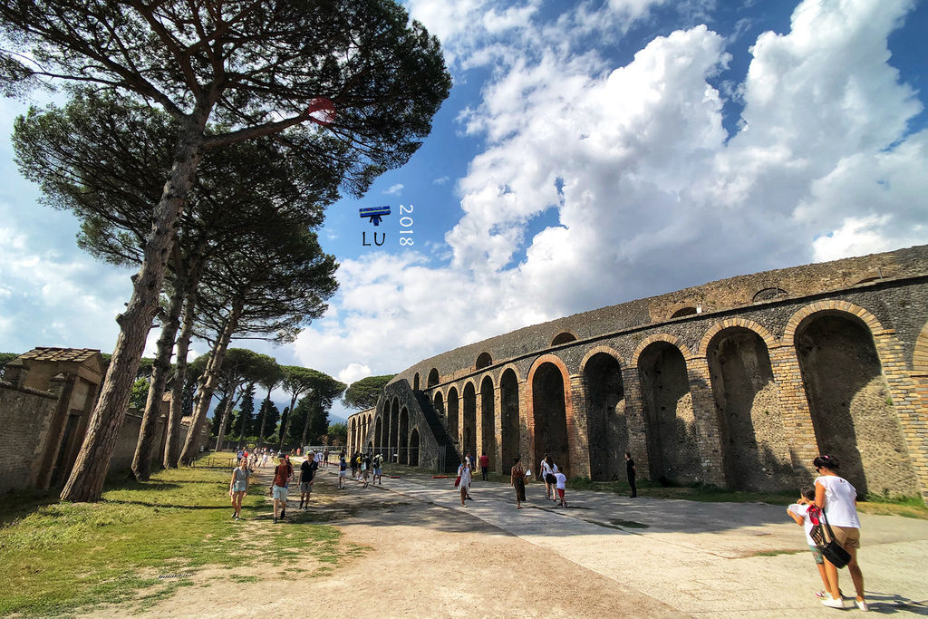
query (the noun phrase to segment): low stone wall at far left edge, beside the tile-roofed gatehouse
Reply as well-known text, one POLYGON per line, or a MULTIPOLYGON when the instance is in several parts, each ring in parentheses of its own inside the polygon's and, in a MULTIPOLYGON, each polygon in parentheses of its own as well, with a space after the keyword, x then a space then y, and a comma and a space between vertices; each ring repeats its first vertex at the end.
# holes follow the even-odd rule
POLYGON ((54 393, 0 380, 0 495, 30 485, 57 409, 54 393))

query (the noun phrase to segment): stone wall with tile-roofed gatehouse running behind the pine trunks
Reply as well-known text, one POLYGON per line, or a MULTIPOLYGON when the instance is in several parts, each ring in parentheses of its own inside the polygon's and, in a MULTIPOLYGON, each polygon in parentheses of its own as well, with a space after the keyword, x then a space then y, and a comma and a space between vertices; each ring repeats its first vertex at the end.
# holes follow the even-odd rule
MULTIPOLYGON (((103 357, 88 348, 34 348, 6 364, 0 380, 0 495, 19 488, 64 484, 77 459, 103 381, 103 357)), ((161 402, 152 460, 161 462, 170 394, 161 402)), ((181 421, 182 435, 189 418, 181 421)), ((122 421, 110 472, 128 470, 142 415, 129 408, 122 421)), ((200 445, 209 440, 204 428, 200 445)))

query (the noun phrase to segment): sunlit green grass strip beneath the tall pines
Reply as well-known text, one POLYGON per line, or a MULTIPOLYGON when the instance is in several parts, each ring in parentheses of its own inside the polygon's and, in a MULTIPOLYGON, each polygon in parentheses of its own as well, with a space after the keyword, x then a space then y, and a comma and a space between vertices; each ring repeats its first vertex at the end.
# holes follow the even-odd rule
POLYGON ((306 557, 328 574, 356 554, 342 548, 337 528, 310 522, 308 514, 280 525, 250 522, 270 511, 258 484, 245 498, 245 521, 232 521, 228 478, 210 469, 162 471, 149 482, 111 484, 97 503, 58 503, 49 493, 5 496, 0 615, 71 613, 128 600, 145 607, 193 584, 159 581, 158 574, 306 557))

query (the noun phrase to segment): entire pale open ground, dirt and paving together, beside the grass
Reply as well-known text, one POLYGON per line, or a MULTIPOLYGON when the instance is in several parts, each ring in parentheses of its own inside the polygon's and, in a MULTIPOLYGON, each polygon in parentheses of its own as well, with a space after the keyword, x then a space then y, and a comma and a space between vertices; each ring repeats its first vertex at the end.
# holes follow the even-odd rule
MULTIPOLYGON (((713 619, 838 613, 815 598, 821 583, 805 535, 781 506, 568 490, 570 508, 562 509, 545 500, 542 484, 532 484, 527 509, 517 511, 504 484, 475 483, 475 500, 462 508, 451 480, 412 471, 382 487, 349 482, 337 491, 335 482, 322 471, 312 507, 298 517, 342 532, 334 569, 307 552, 300 564, 203 570, 191 586, 154 605, 93 613, 713 619)), ((269 514, 270 507, 240 522, 243 539, 270 545, 306 526, 275 525, 269 514)), ((863 514, 861 525, 870 610, 928 615, 928 521, 863 514)), ((846 572, 842 578, 849 593, 846 572)))

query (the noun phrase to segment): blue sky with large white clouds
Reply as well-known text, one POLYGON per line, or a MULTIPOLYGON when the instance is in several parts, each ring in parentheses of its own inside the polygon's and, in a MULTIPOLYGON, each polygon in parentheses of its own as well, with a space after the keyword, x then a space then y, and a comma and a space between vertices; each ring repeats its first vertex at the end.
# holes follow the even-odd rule
MULTIPOLYGON (((454 81, 432 134, 329 207, 326 315, 292 344, 233 346, 350 383, 560 316, 928 242, 928 2, 404 4, 454 81), (379 206, 380 226, 359 216, 379 206)), ((26 109, 0 100, 0 134, 26 109)), ((110 352, 131 272, 76 247, 6 137, 0 178, 0 352, 110 352)))

